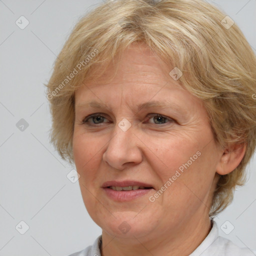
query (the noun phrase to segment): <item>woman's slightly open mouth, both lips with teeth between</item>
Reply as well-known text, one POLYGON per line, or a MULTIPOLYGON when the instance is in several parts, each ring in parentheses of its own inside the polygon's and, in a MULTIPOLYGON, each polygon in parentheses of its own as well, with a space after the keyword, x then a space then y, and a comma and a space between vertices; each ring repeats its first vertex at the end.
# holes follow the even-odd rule
POLYGON ((152 185, 139 181, 107 181, 102 184, 107 197, 115 201, 129 201, 147 194, 152 185))

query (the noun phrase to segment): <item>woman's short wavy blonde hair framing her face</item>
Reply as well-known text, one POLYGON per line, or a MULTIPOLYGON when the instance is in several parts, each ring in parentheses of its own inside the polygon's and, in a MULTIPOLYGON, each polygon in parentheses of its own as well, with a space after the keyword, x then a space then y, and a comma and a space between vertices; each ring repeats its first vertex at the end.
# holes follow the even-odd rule
POLYGON ((52 115, 50 141, 73 163, 74 92, 97 79, 133 42, 145 42, 182 71, 178 81, 202 99, 216 143, 246 145, 239 165, 219 175, 209 210, 214 216, 244 184, 254 152, 256 57, 232 19, 203 0, 109 0, 80 17, 44 84, 52 115))

